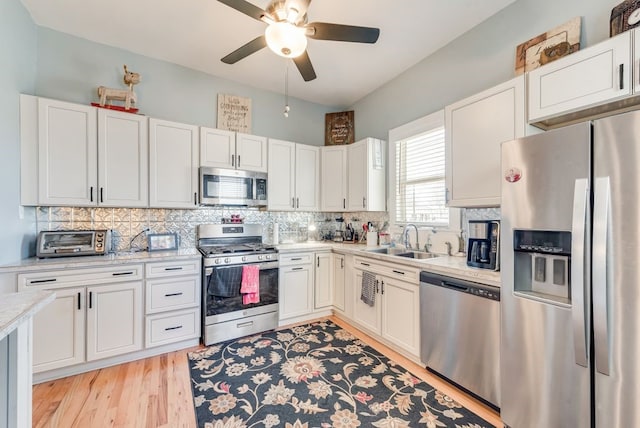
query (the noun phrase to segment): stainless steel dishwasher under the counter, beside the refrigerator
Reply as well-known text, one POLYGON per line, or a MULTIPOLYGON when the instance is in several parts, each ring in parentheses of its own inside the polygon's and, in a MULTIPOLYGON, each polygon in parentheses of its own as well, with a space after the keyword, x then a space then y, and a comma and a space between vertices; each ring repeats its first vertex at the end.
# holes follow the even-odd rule
POLYGON ((500 407, 500 288, 420 273, 427 369, 500 407))

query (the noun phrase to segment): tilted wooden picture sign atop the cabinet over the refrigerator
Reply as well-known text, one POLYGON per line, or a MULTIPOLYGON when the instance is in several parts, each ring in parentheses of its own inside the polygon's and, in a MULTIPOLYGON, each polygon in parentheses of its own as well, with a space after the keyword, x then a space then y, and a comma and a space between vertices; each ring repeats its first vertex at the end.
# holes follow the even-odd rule
POLYGON ((516 48, 516 75, 531 71, 580 49, 579 16, 516 48))

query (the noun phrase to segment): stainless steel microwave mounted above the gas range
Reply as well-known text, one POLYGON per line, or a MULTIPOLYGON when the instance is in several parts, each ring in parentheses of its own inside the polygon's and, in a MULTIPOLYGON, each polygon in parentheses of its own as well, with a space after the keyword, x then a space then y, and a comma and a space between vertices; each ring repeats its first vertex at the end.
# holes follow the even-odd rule
POLYGON ((264 207, 267 205, 267 174, 201 167, 200 204, 264 207))

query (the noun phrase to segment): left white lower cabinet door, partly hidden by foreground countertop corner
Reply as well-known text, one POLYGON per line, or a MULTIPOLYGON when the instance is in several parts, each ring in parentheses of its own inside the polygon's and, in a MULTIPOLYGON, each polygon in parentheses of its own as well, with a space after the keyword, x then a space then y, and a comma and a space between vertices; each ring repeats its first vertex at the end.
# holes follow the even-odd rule
POLYGON ((57 289, 33 317, 33 372, 84 362, 84 287, 57 289))

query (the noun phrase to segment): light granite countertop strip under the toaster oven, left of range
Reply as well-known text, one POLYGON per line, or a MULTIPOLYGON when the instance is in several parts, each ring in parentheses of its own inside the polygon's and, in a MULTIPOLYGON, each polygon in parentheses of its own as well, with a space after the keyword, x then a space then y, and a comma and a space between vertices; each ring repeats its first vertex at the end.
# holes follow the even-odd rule
POLYGON ((117 266, 130 263, 170 262, 174 260, 199 259, 200 252, 195 248, 177 251, 138 251, 107 254, 104 256, 53 257, 38 259, 31 257, 0 266, 0 273, 38 271, 49 269, 73 269, 79 267, 117 266))

